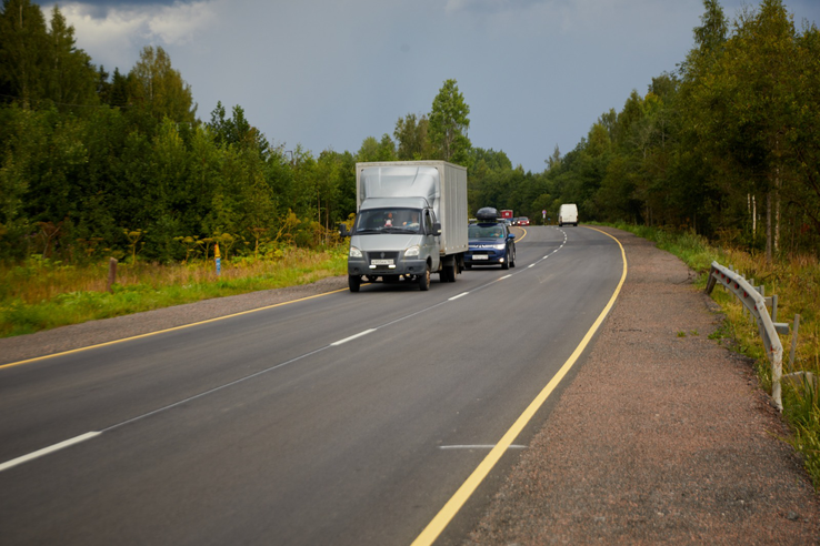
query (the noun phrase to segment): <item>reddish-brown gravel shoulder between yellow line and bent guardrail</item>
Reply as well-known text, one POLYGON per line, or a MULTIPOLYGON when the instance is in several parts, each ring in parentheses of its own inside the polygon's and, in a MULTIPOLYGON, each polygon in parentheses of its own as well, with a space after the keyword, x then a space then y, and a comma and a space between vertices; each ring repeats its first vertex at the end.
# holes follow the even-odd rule
POLYGON ((629 264, 618 302, 466 544, 818 544, 788 427, 709 340, 719 307, 676 256, 604 231, 629 264))

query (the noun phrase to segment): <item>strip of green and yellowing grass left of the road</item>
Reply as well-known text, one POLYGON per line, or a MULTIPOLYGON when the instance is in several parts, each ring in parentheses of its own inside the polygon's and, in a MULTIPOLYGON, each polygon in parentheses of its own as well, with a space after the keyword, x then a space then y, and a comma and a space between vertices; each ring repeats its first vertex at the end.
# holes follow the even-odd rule
POLYGON ((32 257, 0 267, 0 336, 127 315, 258 290, 307 284, 347 273, 347 252, 291 250, 279 260, 118 265, 107 292, 108 263, 66 265, 32 257))

